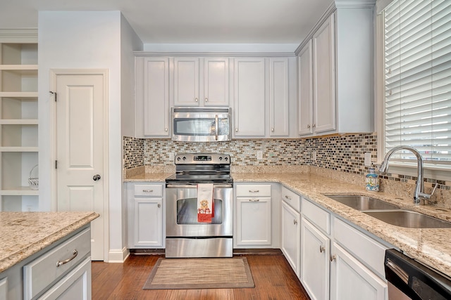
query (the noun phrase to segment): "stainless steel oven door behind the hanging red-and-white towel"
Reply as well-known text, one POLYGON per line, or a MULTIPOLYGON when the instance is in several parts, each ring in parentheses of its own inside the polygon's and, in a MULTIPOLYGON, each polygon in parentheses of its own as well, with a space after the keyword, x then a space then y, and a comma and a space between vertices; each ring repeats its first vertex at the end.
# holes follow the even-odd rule
POLYGON ((233 188, 215 185, 213 195, 214 218, 201 223, 197 221, 197 185, 167 185, 166 237, 232 237, 233 188))

